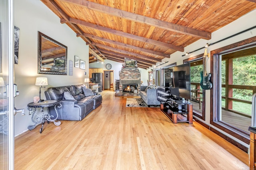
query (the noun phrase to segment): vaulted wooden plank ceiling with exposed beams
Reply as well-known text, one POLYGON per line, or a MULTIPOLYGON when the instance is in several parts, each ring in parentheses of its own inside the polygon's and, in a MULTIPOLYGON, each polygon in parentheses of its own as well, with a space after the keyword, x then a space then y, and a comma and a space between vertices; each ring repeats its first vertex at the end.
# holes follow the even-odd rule
POLYGON ((145 69, 256 9, 256 0, 41 1, 86 41, 90 63, 129 58, 145 69))

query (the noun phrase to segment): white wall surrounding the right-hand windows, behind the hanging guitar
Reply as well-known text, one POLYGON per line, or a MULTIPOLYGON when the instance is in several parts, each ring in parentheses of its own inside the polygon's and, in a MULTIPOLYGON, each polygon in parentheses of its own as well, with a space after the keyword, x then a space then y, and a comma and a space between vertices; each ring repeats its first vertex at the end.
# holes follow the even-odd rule
MULTIPOLYGON (((170 59, 166 58, 162 61, 162 63, 164 63, 164 61, 169 61, 169 62, 166 63, 166 64, 161 65, 161 68, 168 65, 168 64, 175 63, 175 62, 177 62, 177 65, 183 64, 184 59, 188 59, 190 57, 200 55, 200 54, 204 53, 204 49, 196 51, 194 53, 191 53, 189 55, 186 55, 186 56, 182 57, 182 55, 184 55, 186 52, 190 52, 190 51, 194 51, 196 49, 200 49, 200 48, 204 47, 204 45, 206 45, 206 43, 209 43, 209 44, 210 43, 215 43, 216 41, 219 41, 221 39, 224 39, 226 37, 229 37, 231 35, 234 35, 236 33, 241 32, 241 31, 244 31, 244 30, 246 30, 250 27, 254 27, 255 23, 256 23, 256 17, 255 16, 256 16, 256 10, 250 12, 249 14, 247 14, 245 16, 242 16, 238 20, 233 21, 232 23, 230 23, 230 24, 222 27, 221 29, 213 32, 212 33, 212 39, 210 39, 210 40, 200 39, 200 40, 196 41, 195 43, 192 43, 191 45, 185 47, 184 52, 173 53, 172 55, 170 55, 170 59)), ((221 47, 224 47, 224 46, 227 46, 227 45, 230 45, 230 44, 233 44, 233 43, 236 43, 238 41, 242 41, 242 40, 248 39, 250 37, 254 37, 254 36, 256 36, 256 29, 252 29, 251 31, 244 32, 240 35, 237 35, 235 37, 232 37, 232 38, 227 39, 225 41, 222 41, 220 43, 216 43, 212 46, 209 46, 207 48, 207 52, 210 53, 210 51, 212 51, 212 50, 219 49, 221 47)), ((157 69, 158 68, 159 67, 157 67, 157 69)), ((155 69, 156 68, 154 68, 154 70, 155 69)), ((210 58, 208 58, 206 60, 206 72, 210 72, 210 58)), ((221 131, 220 129, 210 125, 210 90, 206 90, 206 121, 203 121, 203 120, 201 120, 201 121, 206 123, 210 127, 213 127, 214 129, 217 129, 218 131, 227 135, 228 137, 234 139, 235 141, 239 142, 240 144, 242 144, 246 147, 249 147, 249 145, 247 145, 243 141, 239 141, 238 139, 232 137, 231 135, 225 133, 224 131, 221 131)))

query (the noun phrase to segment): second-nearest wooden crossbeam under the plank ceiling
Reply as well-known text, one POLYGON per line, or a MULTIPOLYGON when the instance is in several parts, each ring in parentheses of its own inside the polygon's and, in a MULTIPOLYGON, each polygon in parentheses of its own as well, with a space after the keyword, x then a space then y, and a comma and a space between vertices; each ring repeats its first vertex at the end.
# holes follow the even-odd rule
POLYGON ((74 18, 69 18, 69 21, 73 24, 78 24, 78 25, 82 25, 82 26, 85 26, 85 27, 90 27, 92 29, 97 29, 99 31, 104 31, 104 32, 107 32, 107 33, 111 33, 111 34, 114 34, 114 35, 121 36, 121 37, 135 39, 137 41, 142 41, 144 43, 150 43, 150 44, 158 45, 158 46, 165 47, 165 48, 168 48, 168 49, 184 52, 184 47, 179 47, 179 46, 176 46, 176 45, 163 43, 161 41, 156 41, 156 40, 153 40, 153 39, 140 37, 140 36, 133 35, 133 34, 130 34, 130 33, 125 33, 125 32, 122 32, 122 31, 117 31, 115 29, 102 27, 100 25, 95 25, 95 24, 85 22, 85 21, 81 21, 81 20, 77 20, 77 19, 74 19, 74 18))

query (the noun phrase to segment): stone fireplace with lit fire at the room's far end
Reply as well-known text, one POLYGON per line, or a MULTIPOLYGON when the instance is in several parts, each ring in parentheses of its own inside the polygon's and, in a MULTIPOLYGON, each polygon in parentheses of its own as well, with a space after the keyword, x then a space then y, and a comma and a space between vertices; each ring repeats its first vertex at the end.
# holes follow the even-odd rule
POLYGON ((119 92, 116 96, 140 96, 140 70, 137 64, 134 67, 123 67, 119 77, 119 92))

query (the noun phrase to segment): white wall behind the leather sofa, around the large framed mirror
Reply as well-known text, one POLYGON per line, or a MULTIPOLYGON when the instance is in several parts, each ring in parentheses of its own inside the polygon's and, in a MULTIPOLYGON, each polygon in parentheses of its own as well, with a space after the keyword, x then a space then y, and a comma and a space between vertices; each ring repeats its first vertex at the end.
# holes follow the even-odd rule
MULTIPOLYGON (((40 0, 14 0, 14 25, 20 28, 19 61, 14 65, 15 83, 20 95, 15 98, 15 107, 25 109, 25 116, 15 116, 14 134, 18 135, 32 125, 31 115, 28 115, 27 104, 33 102, 34 96, 39 96, 39 86, 35 86, 36 77, 48 78, 48 86, 64 86, 84 84, 84 72, 89 71, 88 46, 66 24, 60 23, 60 18, 50 11, 40 0), (68 61, 74 62, 74 55, 86 61, 86 70, 74 68, 73 76, 37 74, 38 31, 55 39, 68 47, 68 61)), ((68 67, 69 70, 69 67, 68 67)), ((42 88, 41 98, 45 99, 42 88)))

